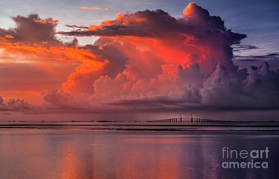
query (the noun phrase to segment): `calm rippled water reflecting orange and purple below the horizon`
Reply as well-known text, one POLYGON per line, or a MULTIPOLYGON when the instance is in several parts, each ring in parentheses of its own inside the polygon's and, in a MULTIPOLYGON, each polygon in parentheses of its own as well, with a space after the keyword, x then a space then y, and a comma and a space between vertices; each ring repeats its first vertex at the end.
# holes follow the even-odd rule
POLYGON ((277 123, 249 124, 252 127, 246 123, 226 126, 219 126, 222 123, 214 126, 21 124, 35 126, 0 124, 1 179, 277 178, 279 169, 277 123), (268 158, 263 155, 264 158, 254 159, 254 162, 268 162, 268 168, 222 168, 226 161, 247 163, 252 159, 250 156, 223 158, 223 147, 238 152, 268 147, 268 158))

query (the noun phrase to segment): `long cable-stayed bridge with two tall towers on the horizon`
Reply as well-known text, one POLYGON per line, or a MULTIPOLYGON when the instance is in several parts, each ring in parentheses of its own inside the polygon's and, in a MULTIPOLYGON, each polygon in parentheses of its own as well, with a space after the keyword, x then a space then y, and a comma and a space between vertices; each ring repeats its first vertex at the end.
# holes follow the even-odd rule
MULTIPOLYGON (((147 122, 182 122, 182 119, 191 119, 191 122, 235 122, 235 121, 230 121, 230 120, 193 117, 193 112, 191 113, 191 117, 182 117, 182 114, 180 113, 180 117, 178 117, 178 118, 162 119, 162 120, 147 121, 147 122)), ((190 121, 187 121, 187 122, 190 122, 190 121)))

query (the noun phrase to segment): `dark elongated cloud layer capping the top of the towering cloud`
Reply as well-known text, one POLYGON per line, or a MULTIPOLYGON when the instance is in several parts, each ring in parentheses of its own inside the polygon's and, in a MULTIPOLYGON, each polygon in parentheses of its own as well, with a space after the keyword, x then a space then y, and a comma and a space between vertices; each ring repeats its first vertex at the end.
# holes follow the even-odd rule
MULTIPOLYGON (((219 36, 224 43, 235 44, 246 37, 245 34, 226 30, 224 21, 219 16, 210 16, 208 11, 196 6, 191 14, 176 19, 167 12, 156 9, 134 13, 118 14, 114 20, 102 21, 100 25, 89 25, 87 30, 58 32, 72 36, 136 36, 152 38, 182 39, 183 34, 193 34, 198 39, 219 36), (192 16, 193 15, 193 16, 192 16), (197 18, 201 19, 199 23, 197 18)), ((193 6, 194 8, 194 6, 193 6)), ((84 28, 76 25, 69 27, 84 28)), ((216 37, 215 37, 216 38, 216 37)))

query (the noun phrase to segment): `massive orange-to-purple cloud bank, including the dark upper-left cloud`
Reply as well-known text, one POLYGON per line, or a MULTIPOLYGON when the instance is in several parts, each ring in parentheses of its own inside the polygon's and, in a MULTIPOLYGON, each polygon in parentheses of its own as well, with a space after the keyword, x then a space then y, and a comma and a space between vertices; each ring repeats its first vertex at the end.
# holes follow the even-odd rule
POLYGON ((210 16, 193 2, 181 18, 161 9, 126 12, 99 25, 66 25, 78 28, 68 32, 55 32, 57 20, 34 14, 13 20, 16 28, 0 29, 0 48, 6 53, 17 53, 12 49, 18 48, 37 57, 44 53, 61 63, 78 63, 62 91, 43 90, 41 108, 279 107, 279 70, 271 71, 266 62, 253 66, 251 74, 236 66, 231 46, 246 35, 227 30, 219 16, 210 16), (27 30, 34 35, 28 36, 27 30), (100 38, 78 46, 77 39, 61 42, 55 33, 100 38))

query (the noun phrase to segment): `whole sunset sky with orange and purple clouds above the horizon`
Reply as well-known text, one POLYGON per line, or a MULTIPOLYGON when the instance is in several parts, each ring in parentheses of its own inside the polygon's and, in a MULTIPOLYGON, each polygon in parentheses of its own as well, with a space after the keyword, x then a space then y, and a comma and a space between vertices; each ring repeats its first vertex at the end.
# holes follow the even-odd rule
POLYGON ((0 1, 0 121, 276 117, 278 7, 0 1))

